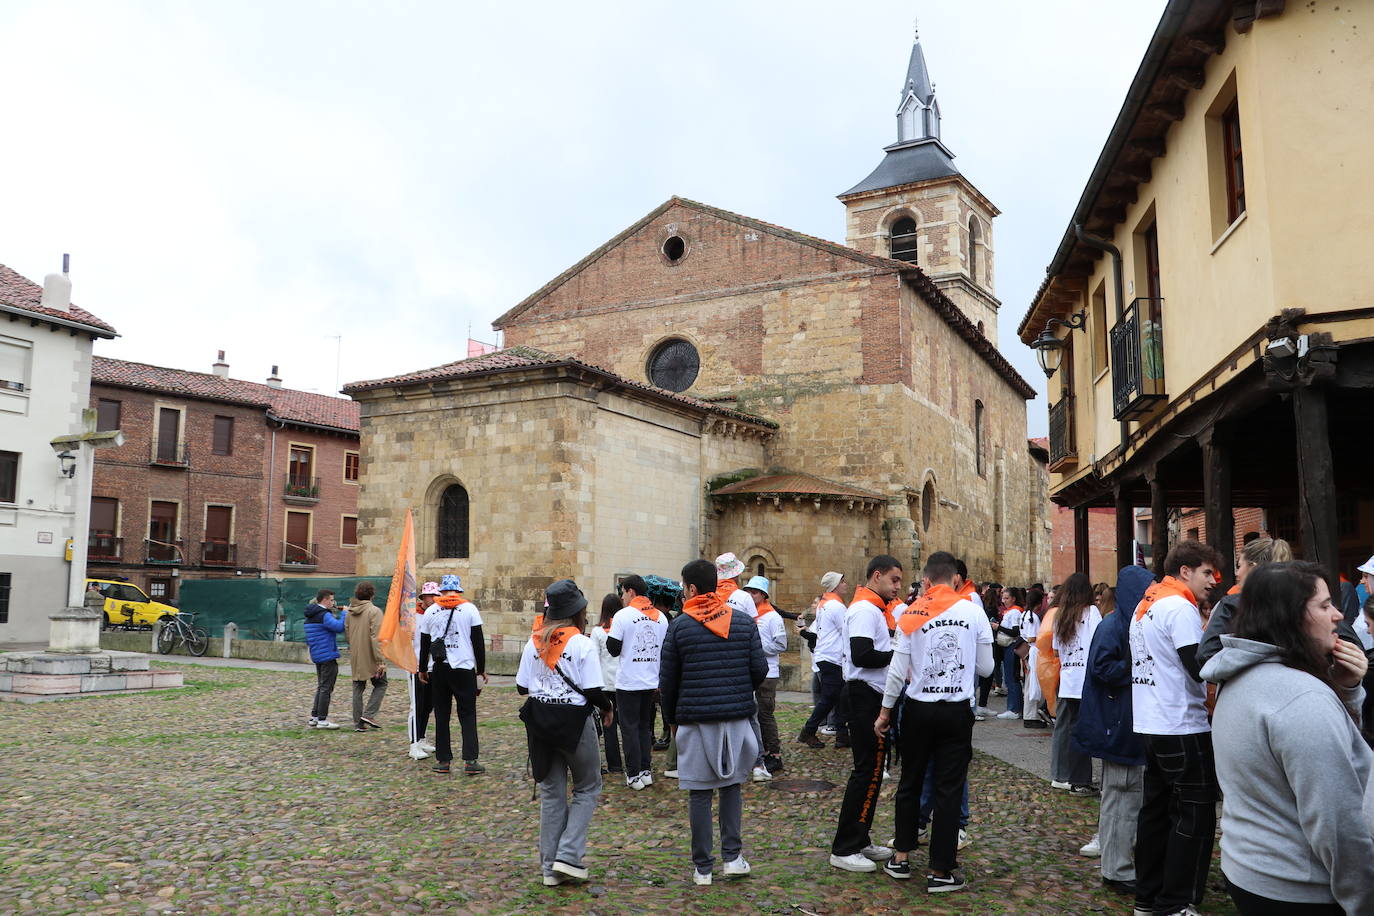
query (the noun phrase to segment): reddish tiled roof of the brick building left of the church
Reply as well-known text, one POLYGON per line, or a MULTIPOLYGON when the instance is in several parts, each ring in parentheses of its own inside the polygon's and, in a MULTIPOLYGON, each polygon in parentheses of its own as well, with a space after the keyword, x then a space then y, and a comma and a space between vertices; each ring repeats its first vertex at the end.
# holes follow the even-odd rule
POLYGON ((91 383, 260 407, 289 423, 326 426, 348 433, 359 430, 357 401, 313 391, 275 389, 261 382, 221 379, 209 372, 188 372, 98 356, 91 360, 91 383))

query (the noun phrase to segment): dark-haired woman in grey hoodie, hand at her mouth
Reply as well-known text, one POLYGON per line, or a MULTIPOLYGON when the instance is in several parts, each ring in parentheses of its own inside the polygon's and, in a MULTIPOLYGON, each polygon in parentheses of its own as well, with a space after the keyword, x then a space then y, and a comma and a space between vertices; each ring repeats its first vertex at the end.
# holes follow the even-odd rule
POLYGON ((1374 753, 1364 654, 1341 640, 1322 567, 1271 563, 1241 591, 1202 676, 1221 784, 1221 873, 1242 916, 1374 913, 1374 753))

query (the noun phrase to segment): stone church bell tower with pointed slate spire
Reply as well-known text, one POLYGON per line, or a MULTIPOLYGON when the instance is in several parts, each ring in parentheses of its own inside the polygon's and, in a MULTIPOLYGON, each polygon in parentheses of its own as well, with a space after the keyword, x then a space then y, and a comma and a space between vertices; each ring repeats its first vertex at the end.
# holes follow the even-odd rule
POLYGON ((1000 211, 959 173, 940 139, 940 102, 926 69, 921 34, 897 103, 897 141, 867 179, 840 195, 845 244, 911 261, 993 341, 992 220, 1000 211))

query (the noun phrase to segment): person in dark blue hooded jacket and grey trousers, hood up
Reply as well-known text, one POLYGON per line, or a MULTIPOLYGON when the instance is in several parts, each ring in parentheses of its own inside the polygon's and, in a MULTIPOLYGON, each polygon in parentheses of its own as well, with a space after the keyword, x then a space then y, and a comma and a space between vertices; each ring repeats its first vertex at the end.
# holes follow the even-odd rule
POLYGON ((1145 794, 1145 742, 1131 720, 1131 619, 1154 577, 1143 566, 1117 575, 1116 611, 1102 618, 1088 648, 1083 702, 1070 743, 1102 759, 1098 835, 1080 849, 1102 857, 1102 883, 1135 895, 1135 827, 1145 794))

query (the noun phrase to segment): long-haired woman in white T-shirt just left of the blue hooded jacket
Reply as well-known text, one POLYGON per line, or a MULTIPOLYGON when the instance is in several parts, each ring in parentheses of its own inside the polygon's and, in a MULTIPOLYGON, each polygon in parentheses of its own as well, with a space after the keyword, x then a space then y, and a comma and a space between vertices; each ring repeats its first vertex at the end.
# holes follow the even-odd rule
POLYGON ((1073 750, 1070 735, 1083 700, 1083 677, 1088 667, 1092 632, 1102 612, 1092 603, 1092 580, 1074 573, 1063 581, 1054 618, 1054 651, 1059 656, 1059 691, 1054 714, 1054 759, 1051 786, 1074 795, 1096 795, 1092 787, 1092 758, 1073 750))

